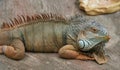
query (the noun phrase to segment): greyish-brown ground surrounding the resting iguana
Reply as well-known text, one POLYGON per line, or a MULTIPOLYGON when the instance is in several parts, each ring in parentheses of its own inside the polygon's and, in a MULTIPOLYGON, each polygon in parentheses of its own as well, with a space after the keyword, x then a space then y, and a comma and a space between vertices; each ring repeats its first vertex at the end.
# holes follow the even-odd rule
POLYGON ((0 24, 17 15, 32 15, 52 12, 72 17, 84 15, 101 22, 111 35, 106 45, 108 63, 98 65, 94 61, 61 59, 57 53, 26 53, 23 60, 15 61, 0 55, 0 70, 120 70, 120 12, 87 16, 79 10, 76 0, 0 0, 0 24))

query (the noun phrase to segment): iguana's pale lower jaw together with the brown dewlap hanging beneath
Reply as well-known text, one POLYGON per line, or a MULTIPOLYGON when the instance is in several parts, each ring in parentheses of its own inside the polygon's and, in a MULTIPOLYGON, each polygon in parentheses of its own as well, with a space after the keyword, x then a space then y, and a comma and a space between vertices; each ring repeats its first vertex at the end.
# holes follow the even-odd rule
POLYGON ((91 53, 89 56, 94 57, 98 64, 103 64, 107 62, 104 46, 109 39, 109 36, 84 39, 79 41, 79 46, 82 51, 91 53))

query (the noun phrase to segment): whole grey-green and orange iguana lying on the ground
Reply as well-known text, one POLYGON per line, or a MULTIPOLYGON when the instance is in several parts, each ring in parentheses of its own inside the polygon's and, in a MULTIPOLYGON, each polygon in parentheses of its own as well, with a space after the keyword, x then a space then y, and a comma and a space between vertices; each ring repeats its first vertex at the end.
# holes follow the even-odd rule
POLYGON ((18 16, 0 27, 0 53, 20 60, 25 51, 58 52, 66 59, 96 60, 105 63, 103 49, 109 41, 100 23, 76 16, 71 19, 58 14, 18 16))

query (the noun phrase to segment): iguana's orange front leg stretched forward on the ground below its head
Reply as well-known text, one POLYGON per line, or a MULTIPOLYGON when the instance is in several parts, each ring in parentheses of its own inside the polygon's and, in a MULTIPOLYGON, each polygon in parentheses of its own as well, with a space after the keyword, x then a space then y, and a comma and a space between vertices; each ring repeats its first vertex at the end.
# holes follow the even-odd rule
POLYGON ((87 55, 78 52, 72 45, 63 46, 59 50, 59 55, 60 57, 67 59, 95 60, 92 57, 89 57, 87 55))

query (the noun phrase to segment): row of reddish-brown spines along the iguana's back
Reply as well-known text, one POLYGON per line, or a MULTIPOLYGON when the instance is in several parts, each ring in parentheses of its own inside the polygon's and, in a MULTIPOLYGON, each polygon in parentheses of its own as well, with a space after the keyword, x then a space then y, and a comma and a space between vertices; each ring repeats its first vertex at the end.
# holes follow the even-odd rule
POLYGON ((28 22, 31 21, 66 21, 66 18, 63 17, 62 15, 57 15, 57 14, 35 14, 33 16, 19 16, 17 18, 14 18, 13 20, 10 19, 11 22, 6 23, 3 22, 3 25, 1 29, 11 29, 15 27, 20 27, 26 24, 30 24, 28 22))

